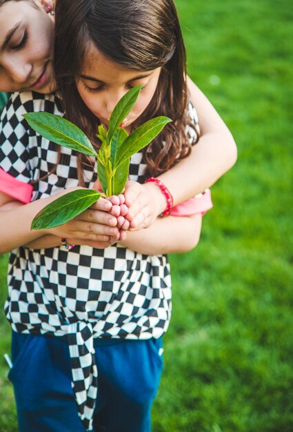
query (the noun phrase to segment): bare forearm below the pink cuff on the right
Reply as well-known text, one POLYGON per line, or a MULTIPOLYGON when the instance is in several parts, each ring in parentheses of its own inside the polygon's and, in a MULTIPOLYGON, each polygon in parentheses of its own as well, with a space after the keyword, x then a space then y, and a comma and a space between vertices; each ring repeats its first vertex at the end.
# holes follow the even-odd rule
POLYGON ((201 219, 201 215, 158 217, 148 228, 128 232, 119 244, 145 255, 188 252, 199 243, 201 219))

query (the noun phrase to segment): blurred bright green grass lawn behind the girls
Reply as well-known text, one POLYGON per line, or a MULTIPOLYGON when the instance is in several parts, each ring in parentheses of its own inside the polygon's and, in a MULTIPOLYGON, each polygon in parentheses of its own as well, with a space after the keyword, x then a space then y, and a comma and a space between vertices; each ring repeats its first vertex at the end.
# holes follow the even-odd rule
MULTIPOLYGON (((199 246, 170 257, 173 316, 153 432, 293 431, 290 4, 176 0, 188 72, 232 130, 239 160, 212 188, 199 246)), ((9 352, 2 311, 0 331, 9 352)), ((3 355, 0 367, 0 430, 14 432, 3 355)))

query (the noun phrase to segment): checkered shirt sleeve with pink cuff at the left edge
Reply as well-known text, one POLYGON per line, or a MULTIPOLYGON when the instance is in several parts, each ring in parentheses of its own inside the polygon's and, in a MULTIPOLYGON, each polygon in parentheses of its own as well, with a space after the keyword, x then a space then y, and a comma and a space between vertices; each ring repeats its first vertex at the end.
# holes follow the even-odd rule
POLYGON ((30 202, 32 195, 29 136, 23 114, 30 111, 26 95, 14 93, 1 115, 0 190, 6 195, 30 202))

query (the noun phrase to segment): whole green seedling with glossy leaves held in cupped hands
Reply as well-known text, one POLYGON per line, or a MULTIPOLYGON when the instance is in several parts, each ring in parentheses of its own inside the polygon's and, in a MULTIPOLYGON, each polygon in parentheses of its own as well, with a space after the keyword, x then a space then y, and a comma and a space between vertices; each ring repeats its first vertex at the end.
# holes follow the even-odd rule
MULTIPOLYGON (((77 126, 59 115, 48 112, 28 112, 23 115, 32 129, 50 141, 77 150, 97 159, 97 175, 104 196, 119 195, 128 179, 130 157, 148 146, 163 127, 171 120, 156 117, 139 126, 130 135, 120 125, 134 106, 143 86, 129 90, 115 106, 110 117, 108 130, 102 124, 97 137, 101 147, 94 150, 90 140, 77 126)), ((79 189, 67 193, 48 204, 32 220, 32 229, 48 229, 63 225, 92 206, 101 197, 94 189, 79 189)))

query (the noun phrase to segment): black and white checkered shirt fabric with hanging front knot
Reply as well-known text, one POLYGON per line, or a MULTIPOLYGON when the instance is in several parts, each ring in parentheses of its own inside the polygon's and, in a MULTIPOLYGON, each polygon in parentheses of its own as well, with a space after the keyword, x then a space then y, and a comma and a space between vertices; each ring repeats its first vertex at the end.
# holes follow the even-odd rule
MULTIPOLYGON (((32 111, 63 115, 58 95, 15 93, 1 116, 0 167, 26 183, 46 175, 57 162, 57 146, 31 130, 22 115, 32 111)), ((199 126, 190 105, 196 141, 199 126)), ((34 184, 32 200, 77 186, 77 157, 61 148, 57 171, 34 184)), ((131 159, 130 179, 142 182, 141 153, 131 159)), ((85 170, 86 186, 96 177, 85 170)), ((93 337, 158 338, 168 328, 171 279, 165 255, 141 255, 119 245, 97 249, 17 248, 10 254, 6 317, 14 331, 68 335, 72 389, 86 429, 92 429, 97 400, 93 337)))

